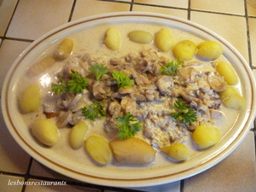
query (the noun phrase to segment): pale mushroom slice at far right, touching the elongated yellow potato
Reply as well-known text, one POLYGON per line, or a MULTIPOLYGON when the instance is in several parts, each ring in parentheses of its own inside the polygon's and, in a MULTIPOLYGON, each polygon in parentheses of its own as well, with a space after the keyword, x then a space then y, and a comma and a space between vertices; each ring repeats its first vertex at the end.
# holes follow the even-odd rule
POLYGON ((224 81, 224 78, 217 73, 209 73, 207 81, 212 87, 212 90, 220 92, 227 89, 227 83, 224 81))

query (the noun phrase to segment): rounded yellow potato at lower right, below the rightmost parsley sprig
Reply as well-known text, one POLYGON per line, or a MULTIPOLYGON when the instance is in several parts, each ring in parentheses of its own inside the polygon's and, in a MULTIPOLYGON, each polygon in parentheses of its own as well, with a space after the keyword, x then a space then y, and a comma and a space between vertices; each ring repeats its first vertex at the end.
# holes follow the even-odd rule
POLYGON ((217 125, 211 122, 205 122, 195 128, 192 138, 199 147, 208 148, 218 143, 220 140, 220 131, 217 125))

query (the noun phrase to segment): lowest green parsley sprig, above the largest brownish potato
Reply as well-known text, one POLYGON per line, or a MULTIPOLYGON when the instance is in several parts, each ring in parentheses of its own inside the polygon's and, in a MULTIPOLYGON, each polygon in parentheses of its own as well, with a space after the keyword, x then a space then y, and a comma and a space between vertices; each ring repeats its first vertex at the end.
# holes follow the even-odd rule
POLYGON ((119 127, 119 138, 126 139, 134 136, 137 131, 140 131, 142 124, 128 112, 117 119, 117 126, 119 127))

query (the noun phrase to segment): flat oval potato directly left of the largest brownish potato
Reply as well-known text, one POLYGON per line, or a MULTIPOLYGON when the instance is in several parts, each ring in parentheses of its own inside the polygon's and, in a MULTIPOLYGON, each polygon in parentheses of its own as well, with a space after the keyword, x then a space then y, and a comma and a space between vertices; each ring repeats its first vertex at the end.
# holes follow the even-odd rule
POLYGON ((90 157, 101 165, 107 165, 112 159, 109 143, 101 136, 92 135, 86 138, 84 148, 90 157))

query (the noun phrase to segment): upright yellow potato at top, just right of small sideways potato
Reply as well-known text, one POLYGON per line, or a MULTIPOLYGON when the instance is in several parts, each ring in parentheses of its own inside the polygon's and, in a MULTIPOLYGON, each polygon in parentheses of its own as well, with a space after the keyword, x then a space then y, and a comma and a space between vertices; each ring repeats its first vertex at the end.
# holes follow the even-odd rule
POLYGON ((156 47, 164 52, 171 50, 174 45, 172 32, 167 27, 163 27, 160 32, 156 32, 154 40, 156 47))

